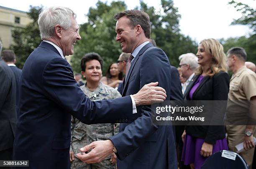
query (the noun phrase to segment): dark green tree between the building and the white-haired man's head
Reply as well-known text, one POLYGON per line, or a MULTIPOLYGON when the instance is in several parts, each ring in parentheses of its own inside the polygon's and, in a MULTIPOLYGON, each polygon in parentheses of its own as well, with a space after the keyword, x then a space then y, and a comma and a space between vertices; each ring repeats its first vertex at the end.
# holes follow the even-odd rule
POLYGON ((40 10, 43 6, 33 7, 30 5, 30 10, 27 12, 33 22, 29 23, 26 28, 15 28, 12 32, 14 44, 11 49, 16 55, 16 65, 22 68, 30 53, 40 44, 41 37, 37 24, 40 10))

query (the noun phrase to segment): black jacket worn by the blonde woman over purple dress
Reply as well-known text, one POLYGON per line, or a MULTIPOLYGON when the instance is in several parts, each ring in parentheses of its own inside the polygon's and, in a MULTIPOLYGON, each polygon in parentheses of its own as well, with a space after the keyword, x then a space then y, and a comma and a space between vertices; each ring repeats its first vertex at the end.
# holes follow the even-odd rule
MULTIPOLYGON (((189 83, 185 100, 189 98, 189 92, 194 86, 199 75, 193 77, 189 83)), ((226 72, 220 72, 213 77, 206 76, 195 90, 192 100, 227 100, 229 91, 229 76, 226 72)), ((225 138, 224 126, 186 126, 187 134, 205 139, 209 144, 215 144, 216 140, 225 138)))

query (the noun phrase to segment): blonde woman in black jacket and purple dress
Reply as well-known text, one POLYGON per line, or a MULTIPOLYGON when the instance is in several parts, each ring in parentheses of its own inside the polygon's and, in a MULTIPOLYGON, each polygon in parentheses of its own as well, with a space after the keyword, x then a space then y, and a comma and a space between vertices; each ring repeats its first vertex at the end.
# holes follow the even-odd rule
MULTIPOLYGON (((223 46, 215 39, 202 40, 197 57, 199 67, 188 85, 185 100, 227 100, 229 76, 223 46)), ((182 161, 192 169, 200 169, 207 157, 228 149, 224 126, 186 126, 182 140, 182 161)))

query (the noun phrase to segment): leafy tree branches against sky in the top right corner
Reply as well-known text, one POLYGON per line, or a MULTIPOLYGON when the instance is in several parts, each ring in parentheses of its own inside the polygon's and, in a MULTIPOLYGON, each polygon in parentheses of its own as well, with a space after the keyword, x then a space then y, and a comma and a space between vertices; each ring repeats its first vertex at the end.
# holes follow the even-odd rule
POLYGON ((234 20, 231 25, 248 25, 253 30, 253 32, 256 33, 256 9, 234 0, 228 2, 228 4, 234 5, 236 10, 242 13, 242 17, 234 20))

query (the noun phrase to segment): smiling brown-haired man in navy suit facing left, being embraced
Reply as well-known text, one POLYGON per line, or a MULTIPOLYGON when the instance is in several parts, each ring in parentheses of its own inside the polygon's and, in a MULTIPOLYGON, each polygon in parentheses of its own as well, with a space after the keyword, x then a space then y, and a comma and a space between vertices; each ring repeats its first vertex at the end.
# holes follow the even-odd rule
MULTIPOLYGON (((123 97, 138 92, 148 82, 158 81, 159 86, 166 89, 168 100, 182 100, 177 69, 170 66, 163 50, 149 42, 151 28, 148 15, 139 10, 127 10, 116 14, 114 18, 117 20, 116 40, 121 43, 123 52, 131 53, 122 87, 123 97)), ((115 145, 118 168, 176 169, 177 157, 172 126, 153 124, 149 106, 137 107, 137 111, 140 112, 135 114, 137 119, 120 124, 119 133, 110 138, 115 145)), ((83 149, 87 151, 95 146, 97 147, 97 142, 83 149)), ((91 152, 79 155, 79 158, 87 163, 98 160, 91 152)))

